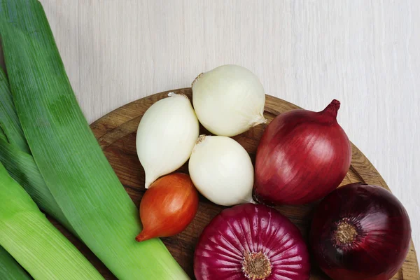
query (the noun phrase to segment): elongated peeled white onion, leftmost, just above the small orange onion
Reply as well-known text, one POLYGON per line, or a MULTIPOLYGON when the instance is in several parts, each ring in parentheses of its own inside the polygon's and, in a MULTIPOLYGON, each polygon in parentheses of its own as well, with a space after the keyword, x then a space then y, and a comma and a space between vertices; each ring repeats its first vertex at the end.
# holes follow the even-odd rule
POLYGON ((168 95, 144 113, 137 129, 137 155, 146 173, 146 188, 186 163, 199 134, 188 97, 173 92, 168 95))

